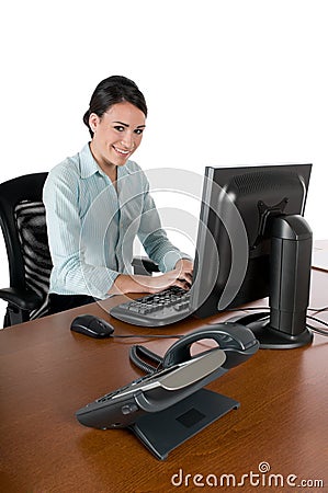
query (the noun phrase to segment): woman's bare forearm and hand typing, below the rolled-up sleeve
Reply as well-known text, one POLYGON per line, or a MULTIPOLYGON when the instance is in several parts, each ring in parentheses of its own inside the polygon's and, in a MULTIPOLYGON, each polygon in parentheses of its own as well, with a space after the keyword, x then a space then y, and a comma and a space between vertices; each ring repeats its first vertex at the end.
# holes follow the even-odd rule
POLYGON ((190 289, 192 283, 193 263, 181 259, 177 262, 173 271, 159 276, 129 276, 121 274, 110 289, 110 295, 124 295, 126 293, 159 293, 170 286, 178 286, 185 290, 190 289))

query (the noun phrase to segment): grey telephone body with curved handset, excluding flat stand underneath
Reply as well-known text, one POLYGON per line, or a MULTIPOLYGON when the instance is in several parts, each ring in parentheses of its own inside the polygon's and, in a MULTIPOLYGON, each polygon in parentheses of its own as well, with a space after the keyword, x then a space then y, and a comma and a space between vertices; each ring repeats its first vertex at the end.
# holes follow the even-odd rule
POLYGON ((258 348, 258 341, 242 325, 207 325, 176 342, 156 370, 88 404, 77 412, 77 417, 86 426, 128 426, 145 413, 162 411, 192 395, 246 362, 258 348), (191 345, 204 339, 215 340, 219 347, 191 356, 191 345))

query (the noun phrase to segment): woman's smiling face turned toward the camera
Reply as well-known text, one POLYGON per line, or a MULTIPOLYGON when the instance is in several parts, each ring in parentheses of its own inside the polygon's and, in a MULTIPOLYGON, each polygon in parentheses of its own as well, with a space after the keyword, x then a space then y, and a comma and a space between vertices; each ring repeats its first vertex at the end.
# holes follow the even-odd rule
POLYGON ((104 172, 126 163, 139 147, 146 127, 145 114, 131 103, 113 104, 99 117, 91 113, 89 125, 94 133, 92 154, 104 172))

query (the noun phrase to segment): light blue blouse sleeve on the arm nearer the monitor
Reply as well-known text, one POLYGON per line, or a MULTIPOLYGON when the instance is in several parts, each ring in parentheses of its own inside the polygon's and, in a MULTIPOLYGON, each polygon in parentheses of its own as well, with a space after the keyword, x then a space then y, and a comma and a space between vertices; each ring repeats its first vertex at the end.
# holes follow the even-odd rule
POLYGON ((192 260, 190 255, 181 252, 168 239, 166 231, 161 227, 155 200, 149 193, 148 181, 145 183, 144 209, 138 238, 147 255, 158 264, 161 272, 172 271, 181 259, 192 260))

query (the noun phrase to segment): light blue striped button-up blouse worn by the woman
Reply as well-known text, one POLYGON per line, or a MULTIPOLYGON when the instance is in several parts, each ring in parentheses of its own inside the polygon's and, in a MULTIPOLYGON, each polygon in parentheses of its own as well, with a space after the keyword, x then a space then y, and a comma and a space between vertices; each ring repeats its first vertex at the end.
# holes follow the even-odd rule
POLYGON ((161 229, 147 177, 134 161, 118 167, 116 192, 86 145, 49 172, 43 199, 50 293, 105 298, 120 273, 132 273, 136 236, 161 272, 188 257, 161 229))

